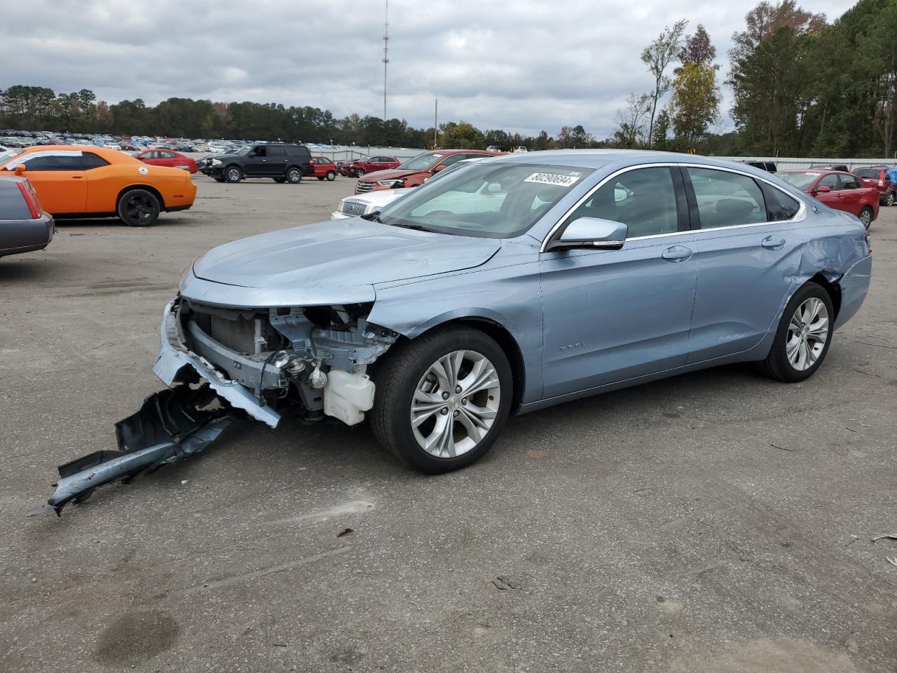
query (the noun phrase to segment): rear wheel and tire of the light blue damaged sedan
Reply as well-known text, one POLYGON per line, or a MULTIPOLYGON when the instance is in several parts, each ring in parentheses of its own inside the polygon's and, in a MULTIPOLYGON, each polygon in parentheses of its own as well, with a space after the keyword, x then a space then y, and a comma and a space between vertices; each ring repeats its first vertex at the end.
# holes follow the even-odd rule
POLYGON ((809 379, 829 352, 834 319, 829 293, 819 284, 805 284, 785 307, 760 371, 786 383, 809 379))

